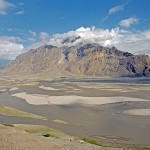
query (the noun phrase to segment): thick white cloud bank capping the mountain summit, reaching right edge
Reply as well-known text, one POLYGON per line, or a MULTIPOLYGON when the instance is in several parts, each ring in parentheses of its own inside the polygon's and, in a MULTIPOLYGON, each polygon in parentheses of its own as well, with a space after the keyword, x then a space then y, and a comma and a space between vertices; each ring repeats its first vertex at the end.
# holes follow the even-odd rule
POLYGON ((129 30, 96 29, 81 27, 75 31, 64 34, 54 34, 48 44, 61 46, 74 46, 79 43, 97 43, 102 46, 115 46, 120 50, 131 53, 146 53, 150 55, 150 30, 131 32, 129 30))

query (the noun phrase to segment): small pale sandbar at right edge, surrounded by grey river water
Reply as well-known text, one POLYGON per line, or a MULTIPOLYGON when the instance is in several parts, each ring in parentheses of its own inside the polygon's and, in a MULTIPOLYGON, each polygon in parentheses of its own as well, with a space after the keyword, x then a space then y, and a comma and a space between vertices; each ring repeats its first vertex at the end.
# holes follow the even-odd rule
POLYGON ((131 109, 124 111, 124 113, 135 116, 150 116, 150 109, 131 109))

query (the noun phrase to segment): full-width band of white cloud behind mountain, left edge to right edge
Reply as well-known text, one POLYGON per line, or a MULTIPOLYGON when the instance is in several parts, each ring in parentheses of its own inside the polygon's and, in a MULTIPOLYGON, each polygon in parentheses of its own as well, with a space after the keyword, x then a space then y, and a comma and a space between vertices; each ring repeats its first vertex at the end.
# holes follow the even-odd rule
MULTIPOLYGON (((36 34, 32 36, 36 36, 36 34)), ((150 55, 150 30, 133 32, 127 29, 119 29, 118 27, 110 30, 81 27, 67 33, 54 34, 51 37, 47 33, 42 32, 40 36, 41 41, 33 43, 26 50, 37 48, 44 44, 62 47, 75 46, 80 43, 83 45, 96 43, 106 47, 115 46, 119 50, 133 54, 145 53, 150 55), (47 42, 48 39, 50 40, 47 42)), ((17 55, 25 52, 23 44, 19 44, 20 42, 21 39, 19 37, 0 37, 0 59, 14 59, 17 55)))

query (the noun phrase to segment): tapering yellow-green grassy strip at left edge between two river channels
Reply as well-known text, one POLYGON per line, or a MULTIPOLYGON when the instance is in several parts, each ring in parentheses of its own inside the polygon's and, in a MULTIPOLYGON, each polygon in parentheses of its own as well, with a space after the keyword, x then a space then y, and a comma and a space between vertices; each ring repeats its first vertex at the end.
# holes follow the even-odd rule
POLYGON ((11 107, 6 107, 0 104, 0 114, 4 116, 15 116, 15 117, 25 117, 25 118, 34 118, 45 120, 45 117, 34 115, 32 113, 23 112, 11 107))

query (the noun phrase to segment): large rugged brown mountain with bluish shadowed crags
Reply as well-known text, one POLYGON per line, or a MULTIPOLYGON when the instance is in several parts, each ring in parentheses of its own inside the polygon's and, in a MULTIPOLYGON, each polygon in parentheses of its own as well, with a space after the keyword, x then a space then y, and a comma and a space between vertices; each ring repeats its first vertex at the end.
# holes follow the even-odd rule
POLYGON ((2 73, 40 74, 40 78, 150 76, 150 58, 93 43, 44 45, 19 55, 2 73))

